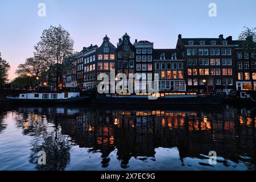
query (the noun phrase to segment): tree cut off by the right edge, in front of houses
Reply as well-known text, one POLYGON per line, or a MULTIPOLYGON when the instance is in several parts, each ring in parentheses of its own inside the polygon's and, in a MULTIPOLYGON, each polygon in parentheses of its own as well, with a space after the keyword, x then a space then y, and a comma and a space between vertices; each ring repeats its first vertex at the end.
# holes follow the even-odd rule
MULTIPOLYGON (((238 36, 238 40, 240 40, 240 49, 243 53, 249 54, 249 74, 251 80, 251 89, 254 90, 254 81, 253 81, 253 64, 251 59, 255 59, 255 51, 256 51, 256 28, 243 27, 245 30, 241 32, 238 36), (254 53, 254 56, 253 56, 254 53)), ((255 67, 254 63, 254 67, 255 67)))

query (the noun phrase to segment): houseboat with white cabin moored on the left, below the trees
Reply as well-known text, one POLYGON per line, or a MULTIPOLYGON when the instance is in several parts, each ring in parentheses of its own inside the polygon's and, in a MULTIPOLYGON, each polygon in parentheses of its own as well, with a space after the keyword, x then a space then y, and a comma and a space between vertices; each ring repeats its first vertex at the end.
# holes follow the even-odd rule
POLYGON ((7 101, 22 104, 78 104, 85 103, 89 96, 80 96, 80 92, 61 93, 20 93, 18 97, 6 97, 7 101))

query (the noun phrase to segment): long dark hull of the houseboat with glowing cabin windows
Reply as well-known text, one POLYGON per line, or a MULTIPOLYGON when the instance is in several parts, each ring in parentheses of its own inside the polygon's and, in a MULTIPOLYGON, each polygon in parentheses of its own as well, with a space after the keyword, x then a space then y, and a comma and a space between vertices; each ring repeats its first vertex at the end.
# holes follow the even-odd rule
POLYGON ((144 98, 128 97, 106 97, 97 96, 98 104, 155 104, 155 105, 217 105, 221 104, 224 96, 198 96, 184 98, 158 98, 157 100, 148 100, 144 98))

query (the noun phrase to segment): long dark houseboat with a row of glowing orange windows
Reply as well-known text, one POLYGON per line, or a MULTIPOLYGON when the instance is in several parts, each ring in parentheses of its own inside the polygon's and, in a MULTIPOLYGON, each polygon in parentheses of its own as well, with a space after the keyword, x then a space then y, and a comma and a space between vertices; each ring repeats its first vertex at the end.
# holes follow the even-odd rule
POLYGON ((196 92, 98 94, 99 104, 216 105, 223 95, 199 95, 196 92))

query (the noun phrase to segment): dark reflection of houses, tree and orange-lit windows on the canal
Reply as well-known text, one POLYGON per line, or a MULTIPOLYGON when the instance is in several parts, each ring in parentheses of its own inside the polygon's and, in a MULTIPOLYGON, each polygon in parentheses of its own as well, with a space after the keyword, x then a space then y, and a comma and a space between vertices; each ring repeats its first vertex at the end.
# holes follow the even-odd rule
POLYGON ((32 144, 30 161, 34 162, 36 152, 49 150, 54 155, 51 160, 62 161, 51 169, 67 166, 71 142, 90 148, 89 152, 101 152, 103 168, 109 166, 109 155, 115 149, 120 166, 127 168, 132 157, 154 160, 156 148, 177 147, 181 165, 184 158, 205 159, 209 151, 216 151, 225 159, 219 161, 224 166, 228 166, 226 160, 243 161, 249 162, 248 169, 255 169, 254 110, 223 107, 198 111, 20 107, 19 111, 26 114, 16 120, 24 134, 43 133, 43 142, 35 138, 32 144))

